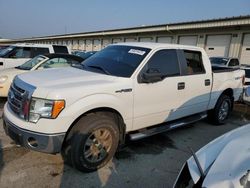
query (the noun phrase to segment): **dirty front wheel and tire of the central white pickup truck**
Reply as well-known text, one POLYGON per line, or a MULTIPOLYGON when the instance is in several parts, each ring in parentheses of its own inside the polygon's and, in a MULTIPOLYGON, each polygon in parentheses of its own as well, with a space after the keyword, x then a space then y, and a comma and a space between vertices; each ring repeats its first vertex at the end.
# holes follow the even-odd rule
POLYGON ((83 172, 105 166, 119 143, 119 129, 112 113, 83 116, 72 128, 62 152, 64 160, 83 172))

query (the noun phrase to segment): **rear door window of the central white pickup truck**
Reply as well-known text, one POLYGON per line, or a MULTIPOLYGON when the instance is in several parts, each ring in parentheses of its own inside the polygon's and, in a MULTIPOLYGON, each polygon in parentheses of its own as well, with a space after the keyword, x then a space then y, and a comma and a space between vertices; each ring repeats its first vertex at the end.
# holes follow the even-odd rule
POLYGON ((201 52, 184 50, 184 57, 186 59, 188 75, 205 73, 201 52))

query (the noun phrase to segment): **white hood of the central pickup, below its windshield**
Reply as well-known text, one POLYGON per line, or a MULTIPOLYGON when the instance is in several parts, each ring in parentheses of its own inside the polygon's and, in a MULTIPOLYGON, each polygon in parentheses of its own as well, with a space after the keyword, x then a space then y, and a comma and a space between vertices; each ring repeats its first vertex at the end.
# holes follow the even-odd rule
POLYGON ((87 94, 90 88, 111 84, 116 77, 67 67, 32 71, 18 78, 36 88, 34 97, 61 98, 67 92, 73 94, 79 90, 87 94))

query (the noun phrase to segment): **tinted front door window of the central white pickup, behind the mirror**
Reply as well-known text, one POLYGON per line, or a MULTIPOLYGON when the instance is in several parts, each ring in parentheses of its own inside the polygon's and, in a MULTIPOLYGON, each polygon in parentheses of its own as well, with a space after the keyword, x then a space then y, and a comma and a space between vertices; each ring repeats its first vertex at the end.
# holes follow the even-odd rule
MULTIPOLYGON (((176 50, 159 50, 148 61, 146 70, 157 70, 164 76, 180 75, 176 50)), ((144 68, 144 69, 145 69, 144 68)))

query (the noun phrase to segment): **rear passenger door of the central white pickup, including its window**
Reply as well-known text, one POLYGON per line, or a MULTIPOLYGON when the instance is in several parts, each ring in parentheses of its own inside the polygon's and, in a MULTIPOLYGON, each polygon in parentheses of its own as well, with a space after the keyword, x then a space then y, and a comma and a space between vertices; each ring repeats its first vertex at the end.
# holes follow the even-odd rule
POLYGON ((181 116, 188 116, 207 110, 212 76, 205 70, 202 53, 194 50, 181 50, 180 61, 183 67, 183 104, 179 107, 181 116))

